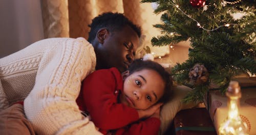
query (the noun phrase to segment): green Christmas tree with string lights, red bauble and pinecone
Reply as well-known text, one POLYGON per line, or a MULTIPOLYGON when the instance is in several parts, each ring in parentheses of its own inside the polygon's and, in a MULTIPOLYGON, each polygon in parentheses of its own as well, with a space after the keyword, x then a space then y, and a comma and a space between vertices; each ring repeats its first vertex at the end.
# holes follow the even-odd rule
MULTIPOLYGON (((230 80, 256 73, 255 1, 251 0, 143 0, 156 3, 163 13, 162 35, 153 46, 190 41, 188 60, 172 69, 178 83, 193 87, 183 101, 203 101, 212 84, 225 93, 230 80)), ((171 55, 171 54, 170 54, 171 55)))

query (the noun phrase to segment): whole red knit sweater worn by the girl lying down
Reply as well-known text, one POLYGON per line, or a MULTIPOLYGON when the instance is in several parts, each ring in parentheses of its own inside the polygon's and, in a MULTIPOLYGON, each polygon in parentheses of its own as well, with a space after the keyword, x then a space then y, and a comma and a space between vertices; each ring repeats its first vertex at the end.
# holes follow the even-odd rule
POLYGON ((122 91, 123 79, 116 68, 98 70, 83 80, 76 102, 80 110, 89 111, 103 134, 157 134, 160 120, 139 120, 136 109, 118 102, 122 91))

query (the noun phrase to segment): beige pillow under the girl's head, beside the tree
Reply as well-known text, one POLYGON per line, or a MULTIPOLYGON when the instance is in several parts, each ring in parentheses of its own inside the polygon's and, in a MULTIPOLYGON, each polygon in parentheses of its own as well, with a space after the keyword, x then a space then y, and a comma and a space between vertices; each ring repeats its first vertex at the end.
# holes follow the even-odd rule
POLYGON ((195 107, 197 104, 194 102, 182 103, 183 99, 189 91, 192 89, 184 85, 173 86, 173 95, 170 100, 162 106, 160 113, 160 134, 164 134, 165 131, 170 127, 175 115, 182 109, 188 109, 195 107))

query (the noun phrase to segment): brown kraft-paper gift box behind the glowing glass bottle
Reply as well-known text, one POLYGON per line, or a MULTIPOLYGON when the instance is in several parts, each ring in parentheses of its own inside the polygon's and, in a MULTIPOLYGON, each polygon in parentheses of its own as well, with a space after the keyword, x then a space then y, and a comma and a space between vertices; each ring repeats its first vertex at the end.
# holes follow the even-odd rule
MULTIPOLYGON (((239 116, 247 124, 248 133, 256 134, 256 77, 243 77, 235 80, 239 81, 242 92, 239 116)), ((210 91, 205 97, 204 104, 209 110, 209 115, 218 132, 221 123, 226 120, 228 115, 227 97, 218 89, 210 91)))

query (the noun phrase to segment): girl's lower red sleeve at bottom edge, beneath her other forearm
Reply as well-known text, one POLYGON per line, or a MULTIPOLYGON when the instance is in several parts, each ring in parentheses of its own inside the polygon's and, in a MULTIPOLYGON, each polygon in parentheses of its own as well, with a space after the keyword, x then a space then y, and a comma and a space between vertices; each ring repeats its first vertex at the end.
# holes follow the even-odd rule
POLYGON ((158 134, 160 128, 160 120, 158 118, 148 118, 143 121, 131 124, 129 127, 116 130, 116 135, 121 134, 138 134, 138 135, 155 135, 158 134))

